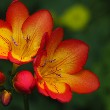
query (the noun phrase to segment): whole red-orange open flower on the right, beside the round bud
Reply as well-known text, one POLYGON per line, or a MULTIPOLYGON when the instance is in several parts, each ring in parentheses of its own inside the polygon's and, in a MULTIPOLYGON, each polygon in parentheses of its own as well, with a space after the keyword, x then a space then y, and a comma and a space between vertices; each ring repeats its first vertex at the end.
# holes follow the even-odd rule
POLYGON ((80 40, 62 41, 63 30, 56 29, 46 51, 34 61, 36 85, 40 93, 69 102, 72 91, 90 93, 98 89, 99 80, 89 70, 82 70, 88 56, 88 45, 80 40))

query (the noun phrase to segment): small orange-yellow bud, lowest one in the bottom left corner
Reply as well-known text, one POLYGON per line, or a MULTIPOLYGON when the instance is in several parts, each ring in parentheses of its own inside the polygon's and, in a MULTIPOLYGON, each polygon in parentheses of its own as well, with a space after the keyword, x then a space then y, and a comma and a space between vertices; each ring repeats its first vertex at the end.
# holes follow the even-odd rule
POLYGON ((3 105, 7 106, 11 102, 12 99, 12 94, 9 91, 4 90, 1 93, 1 102, 3 105))

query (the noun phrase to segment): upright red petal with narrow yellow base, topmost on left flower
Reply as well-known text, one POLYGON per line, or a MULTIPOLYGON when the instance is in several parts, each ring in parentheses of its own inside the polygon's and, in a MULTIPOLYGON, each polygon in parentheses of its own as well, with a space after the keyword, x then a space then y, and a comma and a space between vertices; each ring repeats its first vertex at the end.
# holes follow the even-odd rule
POLYGON ((13 30, 12 37, 18 44, 21 42, 21 39, 23 39, 21 27, 28 16, 27 8, 19 1, 12 2, 7 10, 6 20, 11 24, 13 30))

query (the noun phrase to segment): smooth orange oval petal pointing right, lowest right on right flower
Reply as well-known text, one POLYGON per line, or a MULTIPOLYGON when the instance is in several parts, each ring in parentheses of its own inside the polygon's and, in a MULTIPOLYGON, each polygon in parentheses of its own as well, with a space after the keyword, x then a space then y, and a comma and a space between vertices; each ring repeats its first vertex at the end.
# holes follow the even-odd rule
POLYGON ((66 78, 66 83, 70 85, 72 91, 77 93, 90 93, 100 86, 98 77, 88 70, 69 76, 66 78))

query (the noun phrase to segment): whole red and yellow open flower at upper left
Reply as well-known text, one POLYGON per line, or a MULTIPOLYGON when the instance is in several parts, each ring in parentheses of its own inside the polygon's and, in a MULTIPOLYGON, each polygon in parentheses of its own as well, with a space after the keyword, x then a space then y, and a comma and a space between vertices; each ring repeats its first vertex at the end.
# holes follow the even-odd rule
POLYGON ((42 37, 50 35, 53 21, 47 10, 29 16, 27 8, 14 0, 0 20, 0 58, 16 64, 29 62, 38 52, 42 37))

